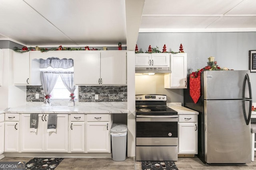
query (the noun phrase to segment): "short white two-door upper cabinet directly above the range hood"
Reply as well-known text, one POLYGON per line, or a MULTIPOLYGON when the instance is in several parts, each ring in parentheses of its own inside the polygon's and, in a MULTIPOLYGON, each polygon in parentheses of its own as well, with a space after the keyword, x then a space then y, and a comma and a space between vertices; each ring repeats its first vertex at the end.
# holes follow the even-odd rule
POLYGON ((170 66, 169 53, 138 53, 135 54, 136 67, 170 66))

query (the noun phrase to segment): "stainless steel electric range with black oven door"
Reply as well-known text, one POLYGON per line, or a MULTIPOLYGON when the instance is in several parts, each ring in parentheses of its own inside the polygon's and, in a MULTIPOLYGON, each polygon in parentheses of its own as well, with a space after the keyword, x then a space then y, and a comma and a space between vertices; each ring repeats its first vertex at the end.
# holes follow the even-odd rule
POLYGON ((178 112, 166 95, 136 95, 136 160, 178 160, 178 112))

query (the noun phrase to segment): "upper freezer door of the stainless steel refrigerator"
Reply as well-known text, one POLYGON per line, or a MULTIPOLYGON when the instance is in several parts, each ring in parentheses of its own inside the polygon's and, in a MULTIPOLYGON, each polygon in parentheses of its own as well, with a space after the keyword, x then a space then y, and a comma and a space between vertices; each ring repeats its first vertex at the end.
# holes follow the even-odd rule
POLYGON ((204 71, 204 99, 222 100, 249 98, 246 74, 250 75, 250 71, 204 71), (244 82, 246 82, 245 87, 244 82))

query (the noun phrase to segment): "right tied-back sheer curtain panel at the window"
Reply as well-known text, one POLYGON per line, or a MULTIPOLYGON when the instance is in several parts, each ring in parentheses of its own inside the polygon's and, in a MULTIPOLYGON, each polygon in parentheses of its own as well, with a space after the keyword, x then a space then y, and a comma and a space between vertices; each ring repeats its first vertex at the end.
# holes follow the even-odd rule
POLYGON ((76 90, 76 86, 74 86, 74 72, 60 72, 60 76, 62 82, 70 92, 70 101, 68 102, 68 106, 75 106, 74 91, 76 90))

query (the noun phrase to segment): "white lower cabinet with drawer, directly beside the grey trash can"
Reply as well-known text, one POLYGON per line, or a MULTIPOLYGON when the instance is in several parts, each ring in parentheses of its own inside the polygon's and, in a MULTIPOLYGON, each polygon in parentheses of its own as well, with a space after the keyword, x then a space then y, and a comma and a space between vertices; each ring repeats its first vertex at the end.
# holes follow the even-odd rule
POLYGON ((110 153, 110 115, 86 115, 86 152, 110 153))

